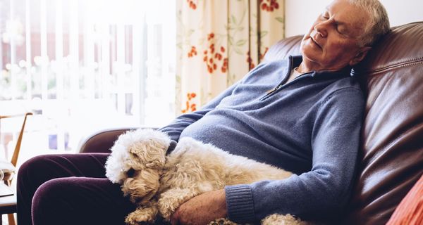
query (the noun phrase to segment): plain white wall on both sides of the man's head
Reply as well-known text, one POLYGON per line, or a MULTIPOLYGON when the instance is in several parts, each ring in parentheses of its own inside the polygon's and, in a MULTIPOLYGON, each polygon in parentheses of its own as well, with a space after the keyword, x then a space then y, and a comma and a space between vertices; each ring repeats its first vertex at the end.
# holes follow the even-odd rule
MULTIPOLYGON (((285 35, 304 34, 331 0, 285 0, 285 35)), ((423 21, 422 0, 381 0, 391 26, 423 21)))

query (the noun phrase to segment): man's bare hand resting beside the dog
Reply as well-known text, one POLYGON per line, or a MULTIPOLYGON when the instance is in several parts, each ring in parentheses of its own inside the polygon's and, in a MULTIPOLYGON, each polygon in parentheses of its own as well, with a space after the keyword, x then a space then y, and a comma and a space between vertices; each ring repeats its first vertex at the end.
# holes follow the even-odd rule
POLYGON ((209 224, 227 215, 225 191, 221 189, 202 193, 180 205, 171 217, 171 224, 209 224))

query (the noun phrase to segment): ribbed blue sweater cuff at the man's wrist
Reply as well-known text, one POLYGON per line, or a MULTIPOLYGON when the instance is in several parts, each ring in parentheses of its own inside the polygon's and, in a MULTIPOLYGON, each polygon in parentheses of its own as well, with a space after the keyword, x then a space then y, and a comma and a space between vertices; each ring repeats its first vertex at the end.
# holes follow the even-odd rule
POLYGON ((238 224, 255 220, 254 203, 250 186, 246 184, 226 186, 228 218, 238 224))

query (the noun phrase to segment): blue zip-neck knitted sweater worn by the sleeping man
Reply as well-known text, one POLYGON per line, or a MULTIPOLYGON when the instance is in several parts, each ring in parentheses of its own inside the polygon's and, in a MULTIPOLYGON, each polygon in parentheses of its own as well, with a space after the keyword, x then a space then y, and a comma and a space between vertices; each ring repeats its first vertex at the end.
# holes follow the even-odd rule
POLYGON ((273 213, 322 219, 348 202, 364 96, 350 70, 309 72, 285 84, 301 60, 262 63, 200 110, 160 129, 175 141, 190 136, 295 173, 226 186, 228 217, 235 222, 273 213))

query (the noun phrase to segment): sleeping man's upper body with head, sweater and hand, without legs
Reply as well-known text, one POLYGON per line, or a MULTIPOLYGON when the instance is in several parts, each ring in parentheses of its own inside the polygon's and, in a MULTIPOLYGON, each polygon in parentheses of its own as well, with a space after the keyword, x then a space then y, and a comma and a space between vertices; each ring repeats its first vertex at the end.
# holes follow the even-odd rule
POLYGON ((303 37, 302 58, 257 66, 202 110, 161 129, 298 174, 199 195, 179 207, 172 224, 226 216, 246 223, 271 213, 322 219, 342 210, 364 106, 350 67, 388 30, 379 1, 335 0, 303 37))

